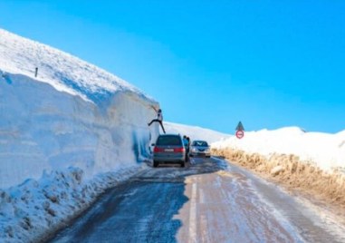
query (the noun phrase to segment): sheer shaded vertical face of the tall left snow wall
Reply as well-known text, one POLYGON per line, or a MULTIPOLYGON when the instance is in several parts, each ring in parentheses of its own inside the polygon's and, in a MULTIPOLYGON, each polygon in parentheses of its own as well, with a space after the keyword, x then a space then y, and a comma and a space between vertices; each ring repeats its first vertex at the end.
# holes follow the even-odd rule
POLYGON ((86 178, 133 166, 158 136, 151 105, 136 92, 113 92, 99 103, 59 92, 48 83, 2 71, 0 189, 43 172, 77 167, 86 178))

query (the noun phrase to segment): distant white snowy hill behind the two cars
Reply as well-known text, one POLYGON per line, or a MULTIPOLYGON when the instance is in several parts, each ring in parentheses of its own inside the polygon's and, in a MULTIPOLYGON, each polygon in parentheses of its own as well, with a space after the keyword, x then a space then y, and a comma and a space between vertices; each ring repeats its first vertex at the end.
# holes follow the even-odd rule
POLYGON ((164 126, 168 133, 179 133, 181 136, 186 135, 191 139, 191 141, 204 140, 211 143, 215 141, 223 141, 230 137, 228 134, 197 126, 187 126, 173 122, 164 122, 164 126))

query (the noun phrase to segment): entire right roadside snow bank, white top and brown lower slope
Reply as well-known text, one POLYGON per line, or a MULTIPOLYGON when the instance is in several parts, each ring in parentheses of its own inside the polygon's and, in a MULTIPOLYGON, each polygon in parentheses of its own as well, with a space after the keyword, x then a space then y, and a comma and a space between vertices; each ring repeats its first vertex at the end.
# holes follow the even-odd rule
MULTIPOLYGON (((261 176, 345 209, 345 133, 299 128, 246 132, 212 144, 223 156, 261 176)), ((343 213, 342 213, 343 215, 343 213)), ((345 215, 344 215, 345 217, 345 215)))

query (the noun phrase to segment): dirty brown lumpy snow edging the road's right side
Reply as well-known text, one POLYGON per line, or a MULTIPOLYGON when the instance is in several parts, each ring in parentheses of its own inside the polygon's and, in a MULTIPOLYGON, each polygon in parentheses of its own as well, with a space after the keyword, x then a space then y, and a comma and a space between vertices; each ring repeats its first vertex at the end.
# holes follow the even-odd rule
POLYGON ((304 191, 345 209, 345 173, 341 170, 321 170, 314 163, 302 161, 292 154, 271 154, 267 157, 231 149, 214 149, 213 154, 280 182, 290 190, 304 191))

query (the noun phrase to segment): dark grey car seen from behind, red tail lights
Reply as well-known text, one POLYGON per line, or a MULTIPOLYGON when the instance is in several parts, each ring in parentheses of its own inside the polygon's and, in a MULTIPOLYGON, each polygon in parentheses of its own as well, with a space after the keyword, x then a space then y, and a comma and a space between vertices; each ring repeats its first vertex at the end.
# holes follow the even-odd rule
POLYGON ((159 163, 178 163, 185 167, 186 149, 182 138, 178 134, 162 134, 158 136, 156 144, 152 144, 153 167, 159 163))

